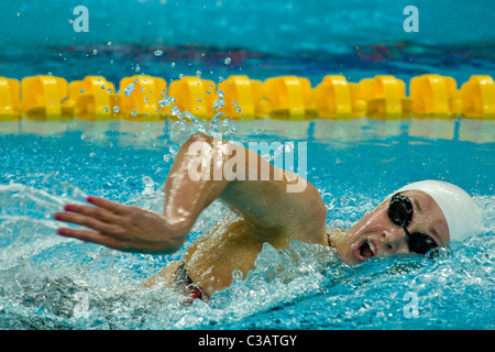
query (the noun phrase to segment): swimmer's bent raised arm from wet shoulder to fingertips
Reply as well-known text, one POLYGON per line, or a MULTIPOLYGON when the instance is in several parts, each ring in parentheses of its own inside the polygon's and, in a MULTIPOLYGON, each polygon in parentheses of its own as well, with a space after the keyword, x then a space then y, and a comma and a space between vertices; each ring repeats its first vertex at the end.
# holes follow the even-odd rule
MULTIPOLYGON (((275 168, 242 146, 238 151, 253 156, 258 166, 270 164, 270 179, 229 180, 222 173, 218 177, 216 172, 223 169, 233 155, 229 153, 230 147, 232 144, 221 139, 202 133, 191 135, 178 150, 165 182, 163 215, 90 197, 88 200, 96 207, 67 205, 67 212, 55 215, 57 220, 90 230, 65 228, 58 233, 121 251, 168 254, 180 249, 197 217, 219 198, 261 229, 260 233, 266 234, 261 239, 263 241, 276 240, 277 237, 284 240, 289 230, 307 232, 308 237, 319 239, 326 231, 327 210, 318 190, 308 183, 301 193, 287 193, 287 184, 294 183, 294 177, 298 176, 275 168), (227 153, 216 158, 215 150, 227 153), (191 172, 200 173, 202 177, 194 177, 191 172), (282 180, 274 180, 274 173, 282 173, 282 180)), ((248 165, 249 160, 245 157, 246 173, 253 166, 248 165)), ((258 172, 261 167, 256 169, 258 172)), ((307 240, 311 242, 311 239, 307 240)))

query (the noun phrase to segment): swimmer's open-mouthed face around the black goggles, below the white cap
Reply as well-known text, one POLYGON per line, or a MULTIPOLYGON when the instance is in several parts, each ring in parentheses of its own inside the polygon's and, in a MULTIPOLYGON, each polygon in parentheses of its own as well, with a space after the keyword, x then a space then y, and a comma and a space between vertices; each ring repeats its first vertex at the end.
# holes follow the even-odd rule
MULTIPOLYGON (((413 205, 413 219, 406 228, 409 233, 426 234, 437 245, 449 242, 447 220, 433 198, 420 190, 408 190, 400 195, 407 196, 413 205)), ((352 265, 370 257, 411 253, 406 231, 388 217, 389 204, 391 198, 365 213, 338 241, 336 249, 345 263, 352 265)))

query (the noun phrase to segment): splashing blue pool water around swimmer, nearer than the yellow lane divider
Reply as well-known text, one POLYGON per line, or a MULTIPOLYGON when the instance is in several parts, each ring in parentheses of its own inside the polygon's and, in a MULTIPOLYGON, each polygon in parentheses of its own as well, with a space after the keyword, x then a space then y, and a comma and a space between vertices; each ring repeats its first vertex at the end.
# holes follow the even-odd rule
MULTIPOLYGON (((431 257, 374 258, 352 267, 320 245, 296 241, 285 251, 265 245, 246 277, 234 272, 232 286, 215 294, 209 304, 196 300, 188 306, 169 288, 143 284, 222 221, 229 215, 223 205, 210 206, 184 248, 163 256, 61 238, 52 216, 66 202, 84 202, 86 195, 161 211, 162 185, 174 153, 198 125, 186 123, 174 134, 173 121, 4 122, 0 153, 9 157, 0 166, 0 328, 495 327, 495 150, 494 141, 480 132, 480 124, 493 129, 491 123, 370 119, 252 123, 238 129, 232 129, 234 122, 219 124, 217 131, 241 143, 306 141, 307 177, 322 195, 330 227, 349 228, 402 185, 436 178, 474 195, 484 217, 483 231, 431 257)), ((202 127, 212 131, 210 122, 202 127)))

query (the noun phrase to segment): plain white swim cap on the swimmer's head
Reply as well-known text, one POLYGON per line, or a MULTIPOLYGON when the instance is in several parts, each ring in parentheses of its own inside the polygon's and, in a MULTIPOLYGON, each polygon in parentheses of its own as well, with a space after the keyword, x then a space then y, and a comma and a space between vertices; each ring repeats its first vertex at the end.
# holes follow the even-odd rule
POLYGON ((421 180, 404 186, 399 191, 422 190, 433 198, 443 212, 451 242, 461 242, 482 229, 481 211, 474 199, 462 188, 441 180, 421 180))

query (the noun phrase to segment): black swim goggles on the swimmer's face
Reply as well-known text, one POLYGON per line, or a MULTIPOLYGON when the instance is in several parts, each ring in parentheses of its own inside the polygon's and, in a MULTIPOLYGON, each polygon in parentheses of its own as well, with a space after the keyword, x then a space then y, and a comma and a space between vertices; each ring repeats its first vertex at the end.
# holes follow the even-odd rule
POLYGON ((429 235, 421 232, 409 233, 407 231, 407 227, 413 221, 413 204, 409 198, 395 194, 392 196, 387 212, 391 221, 406 231, 410 252, 426 254, 438 246, 429 235))

